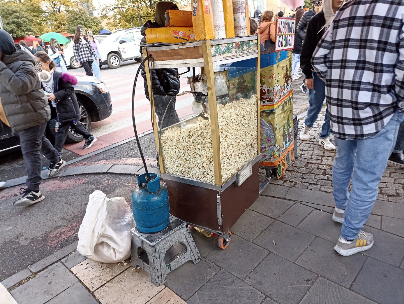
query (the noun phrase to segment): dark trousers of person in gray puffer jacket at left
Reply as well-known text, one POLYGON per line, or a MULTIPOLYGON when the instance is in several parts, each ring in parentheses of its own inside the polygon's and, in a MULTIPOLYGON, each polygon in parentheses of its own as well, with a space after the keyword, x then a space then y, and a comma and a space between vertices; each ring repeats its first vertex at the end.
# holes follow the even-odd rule
POLYGON ((18 132, 20 136, 21 152, 24 157, 25 170, 27 171, 27 190, 38 191, 42 177, 42 154, 52 164, 59 162, 59 152, 45 137, 46 123, 36 125, 18 132))

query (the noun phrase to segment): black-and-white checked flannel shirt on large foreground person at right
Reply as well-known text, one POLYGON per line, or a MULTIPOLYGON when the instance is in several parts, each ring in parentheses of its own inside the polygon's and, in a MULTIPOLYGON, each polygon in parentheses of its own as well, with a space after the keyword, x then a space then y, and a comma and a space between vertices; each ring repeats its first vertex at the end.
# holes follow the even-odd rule
POLYGON ((312 58, 326 83, 332 133, 374 136, 404 112, 404 1, 349 0, 312 58))

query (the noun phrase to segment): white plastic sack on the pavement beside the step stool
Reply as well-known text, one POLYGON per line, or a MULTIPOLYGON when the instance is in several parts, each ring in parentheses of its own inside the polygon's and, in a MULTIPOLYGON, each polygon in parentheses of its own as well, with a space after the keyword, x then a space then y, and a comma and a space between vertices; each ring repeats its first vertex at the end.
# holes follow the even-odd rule
POLYGON ((107 198, 99 190, 90 194, 86 214, 78 230, 77 251, 103 263, 116 263, 130 256, 130 229, 135 226, 125 198, 107 198))

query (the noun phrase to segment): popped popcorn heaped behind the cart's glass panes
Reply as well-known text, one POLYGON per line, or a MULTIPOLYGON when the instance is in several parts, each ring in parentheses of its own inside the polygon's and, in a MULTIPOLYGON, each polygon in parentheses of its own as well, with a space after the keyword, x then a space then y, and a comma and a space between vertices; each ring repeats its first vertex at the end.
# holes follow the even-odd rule
MULTIPOLYGON (((258 153, 257 96, 217 105, 222 181, 258 153)), ((209 117, 208 115, 206 115, 209 117)), ((210 119, 196 117, 161 135, 165 172, 215 183, 210 119)))

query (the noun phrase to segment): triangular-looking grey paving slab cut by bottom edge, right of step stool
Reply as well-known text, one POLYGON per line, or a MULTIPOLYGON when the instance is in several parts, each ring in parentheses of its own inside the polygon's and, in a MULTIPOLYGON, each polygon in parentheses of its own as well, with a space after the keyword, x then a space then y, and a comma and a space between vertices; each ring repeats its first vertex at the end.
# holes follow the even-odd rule
POLYGON ((188 304, 260 304, 265 296, 236 276, 220 270, 188 301, 188 304))

